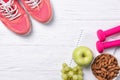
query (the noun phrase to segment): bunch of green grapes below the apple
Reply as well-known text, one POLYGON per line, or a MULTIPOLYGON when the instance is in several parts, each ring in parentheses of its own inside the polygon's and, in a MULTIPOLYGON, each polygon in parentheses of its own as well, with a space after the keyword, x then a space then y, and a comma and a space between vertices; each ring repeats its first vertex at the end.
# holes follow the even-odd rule
POLYGON ((83 80, 82 67, 69 67, 66 63, 62 65, 62 79, 63 80, 83 80))

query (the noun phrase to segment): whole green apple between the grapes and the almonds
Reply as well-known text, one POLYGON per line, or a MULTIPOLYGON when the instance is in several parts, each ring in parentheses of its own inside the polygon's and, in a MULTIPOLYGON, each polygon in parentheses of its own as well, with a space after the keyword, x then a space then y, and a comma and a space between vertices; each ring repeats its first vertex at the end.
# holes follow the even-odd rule
POLYGON ((85 46, 77 47, 72 57, 79 66, 88 66, 93 60, 92 51, 85 46))

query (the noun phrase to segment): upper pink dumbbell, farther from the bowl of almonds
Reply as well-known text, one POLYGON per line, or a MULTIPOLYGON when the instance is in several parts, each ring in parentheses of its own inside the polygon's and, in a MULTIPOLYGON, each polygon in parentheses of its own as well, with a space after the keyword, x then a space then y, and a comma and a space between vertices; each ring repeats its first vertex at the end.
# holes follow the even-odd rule
POLYGON ((97 36, 99 38, 100 41, 104 41, 106 39, 106 37, 113 35, 115 33, 120 32, 120 26, 111 28, 109 30, 103 31, 103 30, 98 30, 97 31, 97 36))

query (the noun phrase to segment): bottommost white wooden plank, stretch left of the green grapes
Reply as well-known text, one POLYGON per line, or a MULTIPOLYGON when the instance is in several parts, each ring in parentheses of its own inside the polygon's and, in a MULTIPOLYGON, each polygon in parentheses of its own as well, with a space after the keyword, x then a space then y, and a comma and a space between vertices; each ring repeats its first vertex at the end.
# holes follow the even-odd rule
POLYGON ((60 74, 58 71, 1 71, 0 73, 0 79, 1 80, 53 80, 53 79, 59 79, 60 80, 60 74), (44 75, 44 76, 43 76, 44 75))

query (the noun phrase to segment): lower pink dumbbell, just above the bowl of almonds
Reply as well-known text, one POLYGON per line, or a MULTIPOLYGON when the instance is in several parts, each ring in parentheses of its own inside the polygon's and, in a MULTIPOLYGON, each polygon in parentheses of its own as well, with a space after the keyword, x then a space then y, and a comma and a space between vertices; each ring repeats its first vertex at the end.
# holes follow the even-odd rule
POLYGON ((98 52, 102 53, 104 49, 111 48, 115 46, 120 46, 120 40, 110 41, 110 42, 100 42, 96 43, 98 52))

